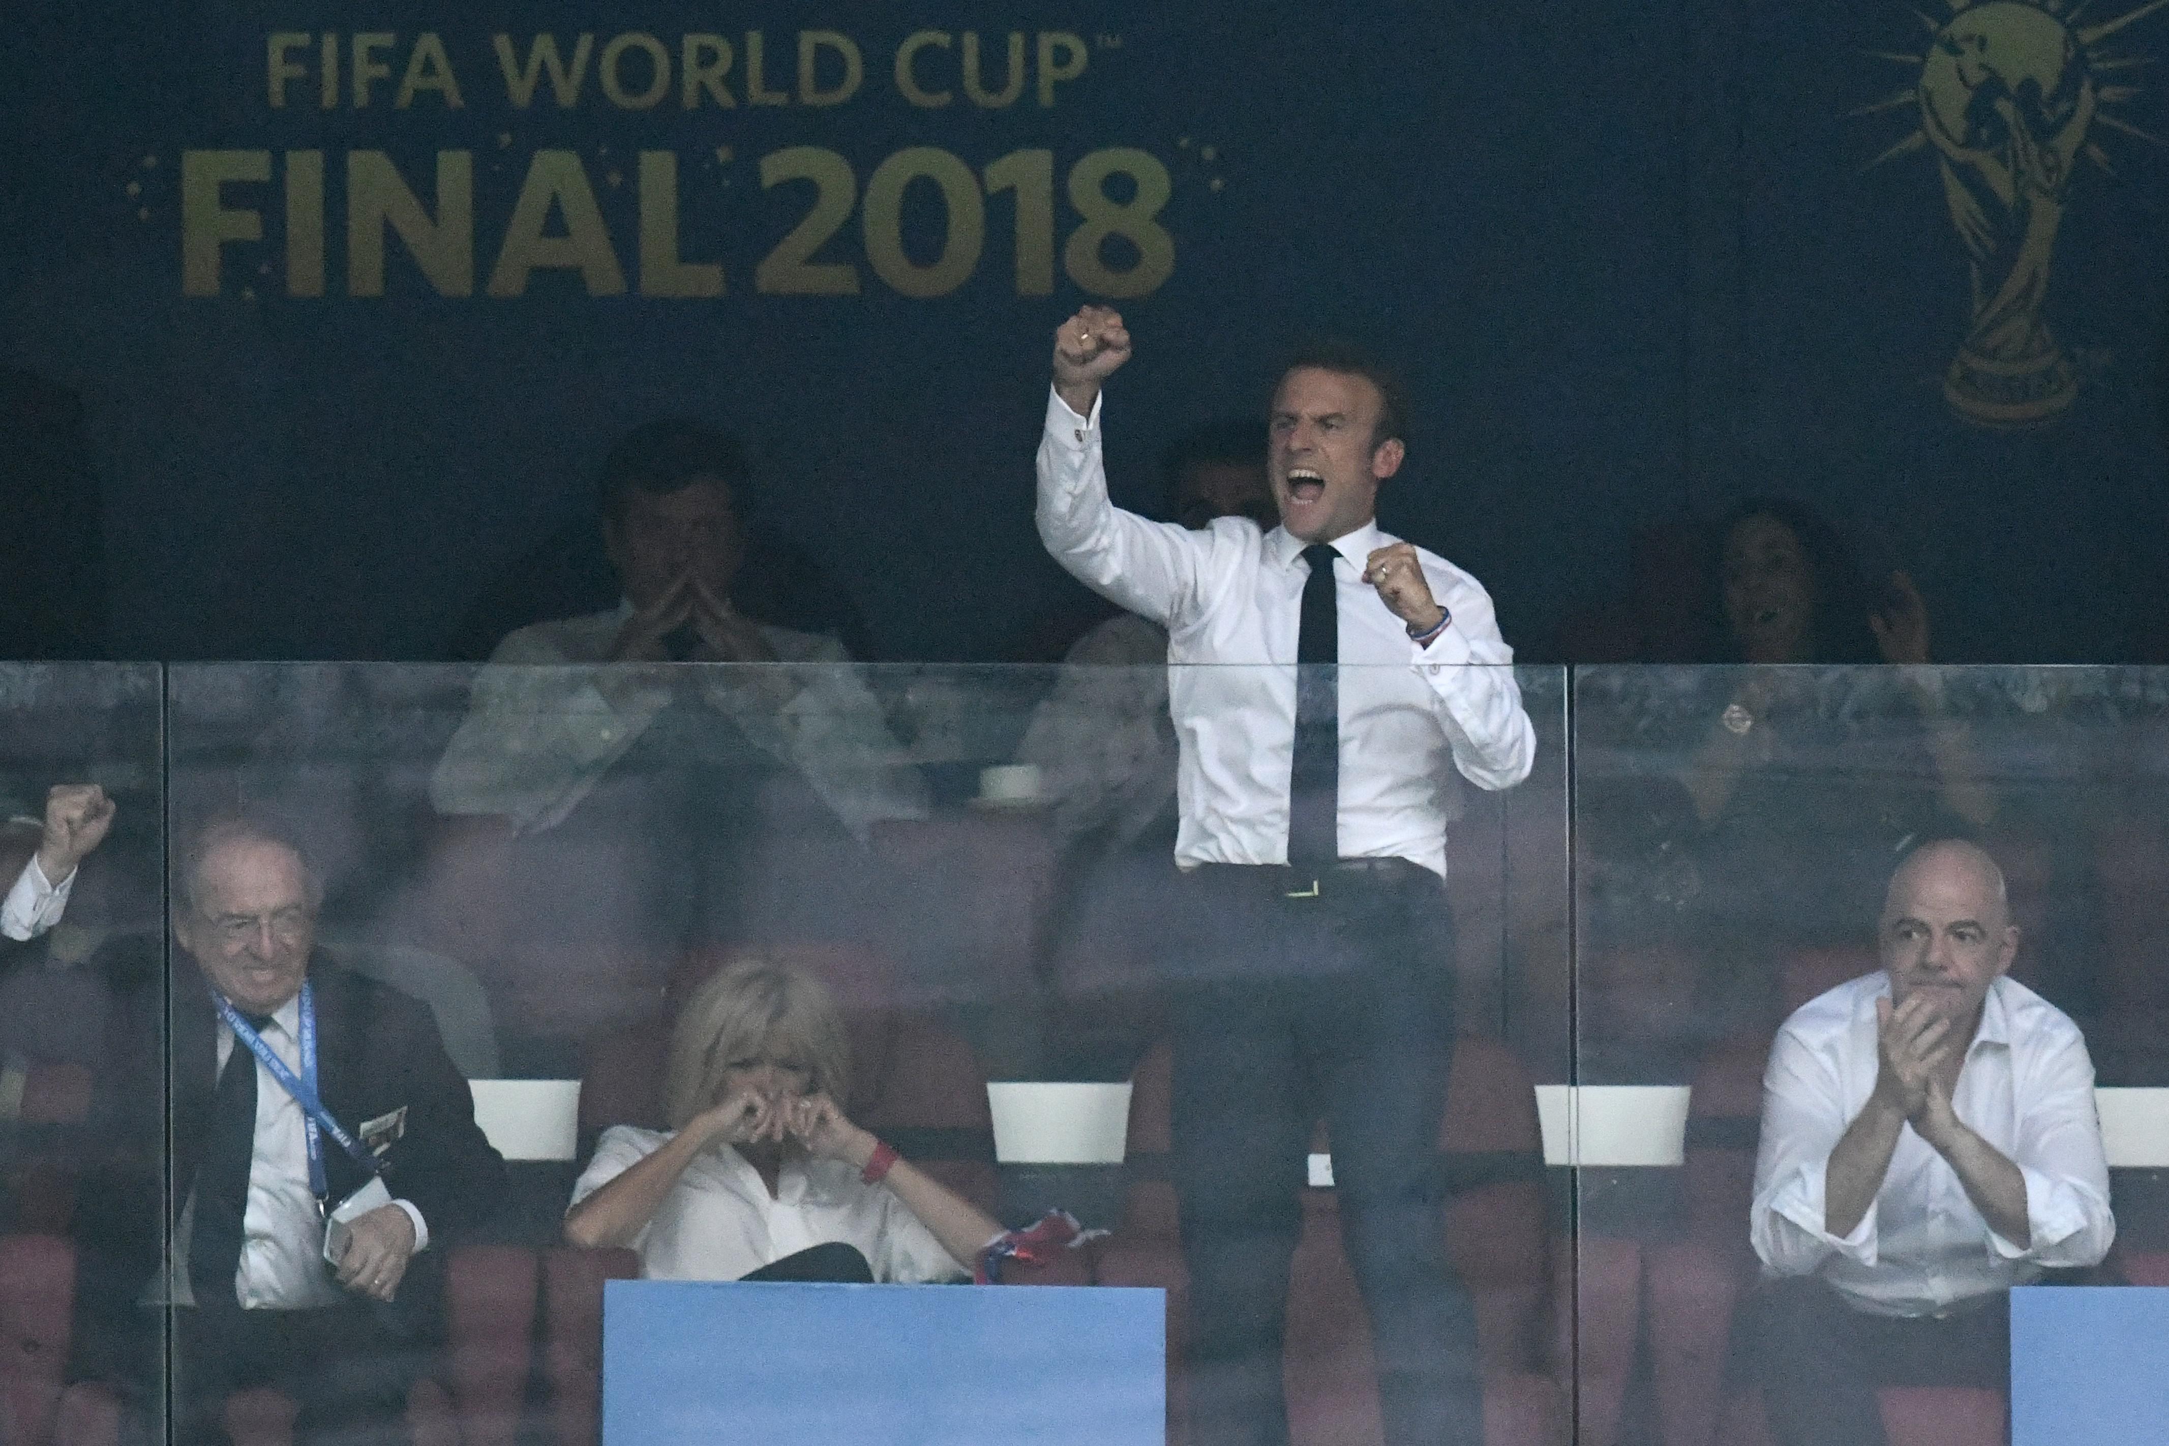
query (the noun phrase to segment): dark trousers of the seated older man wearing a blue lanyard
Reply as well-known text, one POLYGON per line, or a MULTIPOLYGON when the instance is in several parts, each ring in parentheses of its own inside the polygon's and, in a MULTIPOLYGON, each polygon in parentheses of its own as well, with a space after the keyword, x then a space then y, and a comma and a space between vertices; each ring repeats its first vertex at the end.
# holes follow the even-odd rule
POLYGON ((174 1312, 174 1446, 221 1446, 226 1398, 269 1385, 301 1416, 295 1442, 406 1442, 406 1398, 432 1348, 386 1325, 367 1301, 325 1309, 189 1307, 174 1312))

